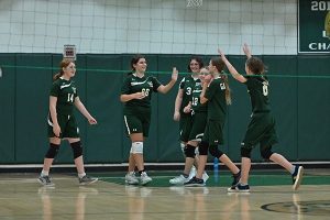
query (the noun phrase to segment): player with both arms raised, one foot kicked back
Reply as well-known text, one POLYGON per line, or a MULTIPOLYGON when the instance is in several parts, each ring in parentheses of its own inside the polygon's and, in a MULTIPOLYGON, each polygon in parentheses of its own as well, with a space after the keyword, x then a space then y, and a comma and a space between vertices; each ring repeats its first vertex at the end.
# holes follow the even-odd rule
POLYGON ((256 144, 260 144, 260 153, 263 158, 271 160, 292 174, 293 189, 297 190, 302 179, 302 166, 293 165, 283 155, 272 151, 272 146, 277 143, 277 135, 275 131, 275 119, 270 107, 270 81, 265 76, 265 66, 260 58, 251 55, 246 44, 244 44, 243 51, 248 56, 245 63, 246 76, 239 74, 226 58, 224 54, 219 50, 221 59, 224 62, 232 77, 246 85, 252 106, 251 120, 241 144, 242 176, 240 183, 237 186, 230 187, 228 190, 250 191, 248 180, 251 168, 251 151, 256 144))

